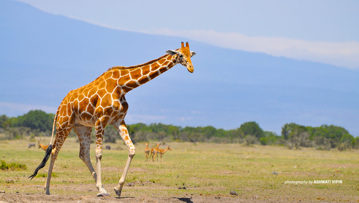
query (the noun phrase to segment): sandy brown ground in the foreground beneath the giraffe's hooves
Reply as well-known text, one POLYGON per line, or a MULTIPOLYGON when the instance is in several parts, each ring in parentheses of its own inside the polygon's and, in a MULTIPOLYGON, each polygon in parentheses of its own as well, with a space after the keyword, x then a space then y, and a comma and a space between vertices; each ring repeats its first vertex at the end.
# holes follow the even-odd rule
MULTIPOLYGON (((111 188, 113 185, 106 185, 106 188, 111 188)), ((151 185, 149 187, 154 187, 151 185)), ((156 187, 156 186, 155 186, 156 187)), ((11 185, 11 188, 2 188, 0 187, 0 203, 3 202, 11 202, 11 203, 45 203, 45 202, 58 202, 58 203, 132 203, 132 202, 140 202, 140 203, 234 203, 234 202, 306 202, 305 200, 294 200, 288 198, 265 198, 265 197, 248 197, 242 195, 194 195, 191 194, 191 191, 188 191, 188 194, 180 194, 175 197, 166 197, 165 195, 157 195, 157 194, 138 194, 131 195, 131 191, 128 189, 123 190, 123 197, 117 197, 114 191, 108 190, 111 194, 110 197, 96 197, 96 188, 94 188, 93 184, 70 184, 70 185, 52 185, 50 187, 50 192, 53 193, 54 190, 69 190, 71 192, 74 191, 73 195, 58 195, 58 194, 50 194, 46 195, 45 192, 42 191, 42 185, 11 185), (36 191, 32 192, 21 192, 23 191, 36 191), (3 193, 5 192, 5 193, 3 193), (93 195, 89 195, 93 193, 93 195), (84 195, 78 193, 86 193, 84 195)), ((131 187, 132 188, 132 187, 131 187)), ((135 187, 133 187, 135 188, 135 187)), ((161 189, 160 186, 156 189, 161 189)), ((316 200, 316 202, 321 202, 320 200, 316 200)), ((329 202, 329 201, 325 201, 329 202)))

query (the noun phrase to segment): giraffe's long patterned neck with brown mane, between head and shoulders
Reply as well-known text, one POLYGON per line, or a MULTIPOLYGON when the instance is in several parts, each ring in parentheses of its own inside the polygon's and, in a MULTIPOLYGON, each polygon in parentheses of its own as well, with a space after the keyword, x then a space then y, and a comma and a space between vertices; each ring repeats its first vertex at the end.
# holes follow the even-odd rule
POLYGON ((150 61, 149 63, 145 63, 143 66, 121 69, 118 85, 121 86, 123 92, 127 93, 128 91, 154 79, 172 68, 177 63, 178 61, 175 56, 164 55, 163 57, 150 61))

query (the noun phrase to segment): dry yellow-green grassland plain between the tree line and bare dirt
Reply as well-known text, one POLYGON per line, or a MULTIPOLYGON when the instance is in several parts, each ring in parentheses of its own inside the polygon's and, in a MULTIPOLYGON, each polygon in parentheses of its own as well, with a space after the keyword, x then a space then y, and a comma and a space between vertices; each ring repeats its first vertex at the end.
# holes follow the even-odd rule
MULTIPOLYGON (((78 157, 79 143, 75 139, 67 138, 55 161, 53 172, 57 177, 51 179, 52 195, 97 194, 87 167, 78 157)), ((0 142, 1 160, 27 166, 27 170, 0 170, 0 190, 5 194, 44 192, 45 177, 36 177, 32 181, 27 177, 41 162, 45 152, 38 148, 28 149, 29 143, 28 139, 0 142), (9 182, 9 178, 14 182, 9 182)), ((150 143, 150 147, 153 145, 150 143)), ((135 185, 125 186, 123 197, 146 194, 162 201, 183 197, 187 198, 185 202, 210 197, 223 202, 253 199, 263 202, 359 201, 358 150, 290 150, 285 147, 209 143, 166 143, 162 148, 167 145, 172 151, 166 152, 160 163, 145 162, 145 145, 135 144, 136 155, 126 177, 126 183, 134 182, 135 185), (287 180, 342 180, 342 183, 285 184, 287 180), (238 195, 230 195, 230 190, 235 190, 238 195)), ((94 145, 91 147, 95 166, 94 145)), ((104 149, 102 180, 104 188, 112 196, 115 196, 112 188, 121 177, 126 159, 127 148, 122 141, 111 144, 111 150, 104 149)), ((39 174, 46 174, 47 168, 48 163, 39 174)), ((5 196, 0 195, 0 201, 1 197, 5 196)), ((133 198, 121 201, 131 202, 133 198)))

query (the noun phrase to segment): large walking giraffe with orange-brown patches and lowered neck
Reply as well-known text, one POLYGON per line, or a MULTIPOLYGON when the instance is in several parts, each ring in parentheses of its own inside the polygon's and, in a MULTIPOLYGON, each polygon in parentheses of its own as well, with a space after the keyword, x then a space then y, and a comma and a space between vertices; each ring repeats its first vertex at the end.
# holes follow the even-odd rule
POLYGON ((96 188, 98 189, 97 196, 109 196, 101 182, 102 141, 105 127, 113 125, 126 144, 129 152, 122 176, 118 181, 118 185, 114 188, 115 193, 120 197, 127 171, 135 155, 135 146, 131 141, 124 120, 129 107, 125 94, 154 79, 176 64, 182 64, 190 73, 194 71, 191 57, 196 53, 190 51, 188 42, 186 46, 182 42, 181 48, 167 50, 166 53, 158 59, 144 64, 109 68, 91 83, 71 90, 62 100, 56 111, 50 145, 46 149, 45 157, 29 178, 35 177, 38 170, 45 167, 51 155, 47 178, 44 184, 45 193, 50 194, 50 179, 53 164, 67 135, 74 128, 80 141, 79 158, 83 160, 95 180, 96 188), (52 143, 55 124, 56 136, 52 143), (95 127, 96 137, 96 172, 91 164, 89 152, 92 127, 95 127))

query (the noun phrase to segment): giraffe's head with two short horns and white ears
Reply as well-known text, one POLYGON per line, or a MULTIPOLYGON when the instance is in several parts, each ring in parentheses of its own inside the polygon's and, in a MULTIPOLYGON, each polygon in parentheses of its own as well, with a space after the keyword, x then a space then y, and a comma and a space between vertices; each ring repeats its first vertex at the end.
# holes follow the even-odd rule
POLYGON ((176 55, 176 59, 178 63, 182 64, 183 66, 187 67, 187 70, 190 71, 190 73, 193 73, 193 64, 191 61, 191 57, 196 55, 196 52, 190 51, 190 46, 188 45, 188 42, 186 42, 186 46, 184 46, 184 43, 182 41, 181 49, 178 50, 168 50, 166 51, 169 55, 176 55))

